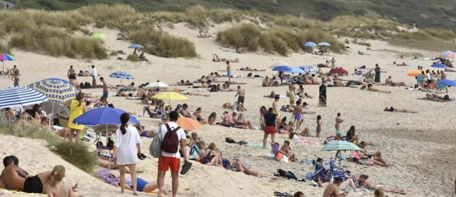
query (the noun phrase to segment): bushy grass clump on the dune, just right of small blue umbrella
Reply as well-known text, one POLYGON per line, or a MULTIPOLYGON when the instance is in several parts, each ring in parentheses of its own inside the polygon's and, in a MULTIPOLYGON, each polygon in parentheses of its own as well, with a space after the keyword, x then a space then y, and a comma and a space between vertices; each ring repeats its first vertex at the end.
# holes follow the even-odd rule
POLYGON ((141 43, 143 50, 164 58, 195 58, 197 53, 195 44, 186 38, 169 35, 161 30, 152 28, 132 31, 128 34, 128 39, 134 43, 141 43))

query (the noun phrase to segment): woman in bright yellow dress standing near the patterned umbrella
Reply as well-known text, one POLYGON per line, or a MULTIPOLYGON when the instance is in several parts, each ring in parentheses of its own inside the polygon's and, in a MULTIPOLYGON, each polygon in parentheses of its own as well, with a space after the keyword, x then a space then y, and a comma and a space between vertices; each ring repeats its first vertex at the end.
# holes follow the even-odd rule
POLYGON ((84 108, 84 93, 78 92, 76 95, 75 100, 71 100, 64 104, 65 106, 69 106, 70 108, 70 116, 68 118, 68 128, 70 128, 70 133, 68 136, 68 140, 73 140, 73 134, 76 132, 76 139, 75 141, 79 141, 79 136, 81 135, 81 131, 84 129, 84 125, 77 125, 73 124, 73 120, 81 116, 84 112, 86 112, 86 108, 84 108))

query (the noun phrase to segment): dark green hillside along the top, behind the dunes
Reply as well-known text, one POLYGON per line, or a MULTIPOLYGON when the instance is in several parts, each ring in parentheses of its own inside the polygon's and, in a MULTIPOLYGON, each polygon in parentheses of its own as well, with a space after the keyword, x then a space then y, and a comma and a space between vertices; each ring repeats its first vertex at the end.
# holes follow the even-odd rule
POLYGON ((202 5, 206 8, 257 10, 272 14, 293 14, 329 20, 341 15, 370 14, 386 16, 399 22, 420 27, 440 27, 456 30, 456 0, 10 0, 17 8, 71 10, 90 4, 129 4, 139 11, 184 11, 202 5))

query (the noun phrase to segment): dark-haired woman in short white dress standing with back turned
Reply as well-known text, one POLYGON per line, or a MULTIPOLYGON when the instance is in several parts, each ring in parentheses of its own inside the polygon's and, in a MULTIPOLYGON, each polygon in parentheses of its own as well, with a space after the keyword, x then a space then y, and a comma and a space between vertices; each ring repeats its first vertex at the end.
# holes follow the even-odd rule
POLYGON ((136 128, 127 125, 130 121, 130 115, 128 113, 123 113, 120 120, 122 125, 116 131, 114 154, 117 158, 117 164, 120 167, 121 192, 123 193, 125 189, 125 165, 128 165, 130 168, 131 179, 133 180, 133 194, 138 195, 136 192, 136 163, 138 163, 139 160, 138 155, 141 155, 141 139, 136 128), (136 152, 135 146, 137 147, 138 152, 136 152))

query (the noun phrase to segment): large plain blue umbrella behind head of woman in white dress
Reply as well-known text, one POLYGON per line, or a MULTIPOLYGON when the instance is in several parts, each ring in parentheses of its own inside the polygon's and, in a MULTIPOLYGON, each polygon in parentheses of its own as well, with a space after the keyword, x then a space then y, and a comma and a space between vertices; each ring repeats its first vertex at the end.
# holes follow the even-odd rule
MULTIPOLYGON (((90 110, 78 118, 73 120, 73 124, 79 125, 107 125, 107 124, 115 124, 121 125, 120 116, 126 113, 121 109, 116 108, 98 108, 94 110, 90 110)), ((130 115, 130 122, 134 124, 139 124, 139 121, 136 120, 135 117, 130 115)))

